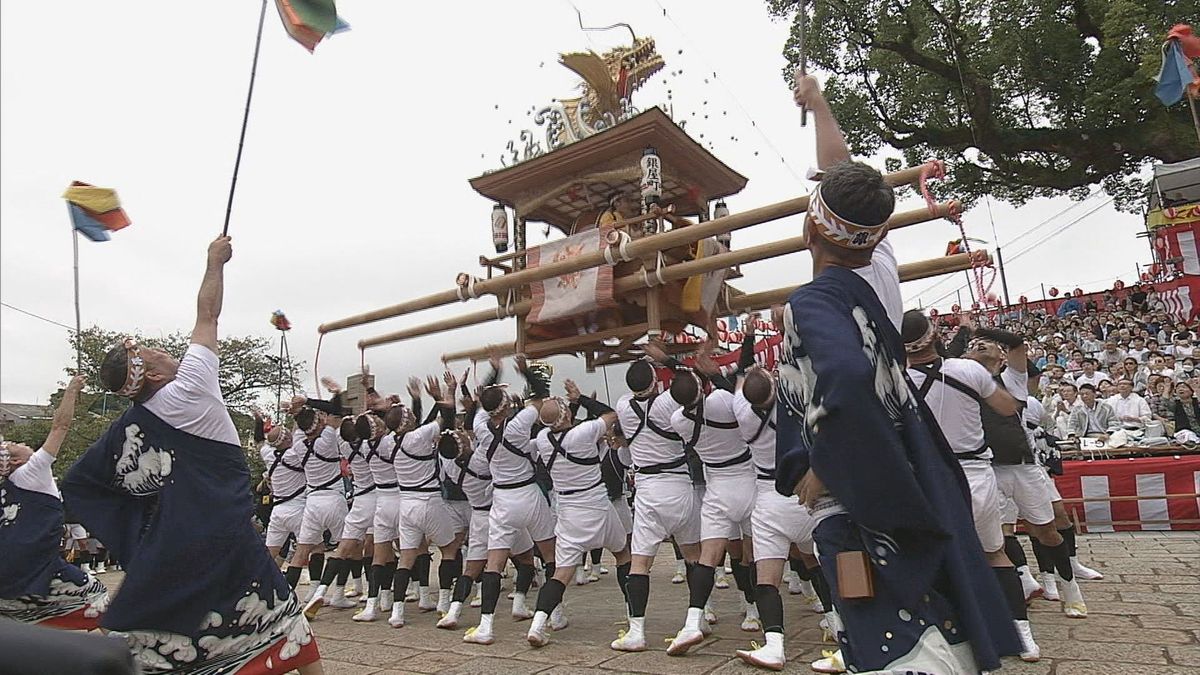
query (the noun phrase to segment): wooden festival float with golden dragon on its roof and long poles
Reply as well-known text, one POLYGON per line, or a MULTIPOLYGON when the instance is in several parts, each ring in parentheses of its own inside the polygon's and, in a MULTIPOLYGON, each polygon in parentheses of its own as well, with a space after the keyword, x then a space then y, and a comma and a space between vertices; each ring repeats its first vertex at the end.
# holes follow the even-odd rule
MULTIPOLYGON (((523 148, 509 143, 504 168, 470 180, 493 204, 497 255, 480 256, 481 270, 458 274, 445 291, 324 323, 322 334, 470 303, 482 309, 366 338, 359 347, 512 317, 514 341, 446 353, 443 359, 580 354, 590 371, 637 358, 637 342, 647 336, 664 338, 674 352, 692 350, 695 344, 672 336, 685 329, 704 330, 714 317, 763 310, 788 297, 796 286, 746 293, 730 281, 740 276, 739 265, 805 250, 804 237, 731 250, 730 235, 802 214, 809 197, 728 213, 724 199, 740 192, 746 178, 662 109, 637 110, 630 103, 632 92, 662 68, 653 40, 635 37, 631 46, 605 54, 563 54, 559 62, 582 77, 582 91, 534 115, 544 127, 545 145, 538 135, 523 131, 523 148), (530 223, 544 223, 563 238, 529 247, 530 223)), ((890 173, 887 181, 895 187, 916 186, 940 172, 940 165, 929 162, 890 173)), ((956 202, 929 201, 928 207, 896 213, 889 227, 958 214, 956 202)), ((800 232, 799 223, 796 231, 800 232)), ((944 256, 902 264, 900 279, 912 281, 988 263, 986 252, 944 256)))

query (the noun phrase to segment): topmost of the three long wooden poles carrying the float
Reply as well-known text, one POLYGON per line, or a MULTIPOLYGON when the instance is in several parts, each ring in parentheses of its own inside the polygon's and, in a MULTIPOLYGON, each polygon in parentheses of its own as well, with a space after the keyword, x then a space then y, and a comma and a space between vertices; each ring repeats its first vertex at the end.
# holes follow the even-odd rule
MULTIPOLYGON (((906 185, 917 181, 922 172, 928 168, 928 165, 920 165, 912 168, 906 168, 898 171, 895 173, 889 173, 884 175, 884 180, 888 185, 893 187, 898 185, 906 185)), ((724 234, 726 232, 733 232, 734 229, 742 229, 744 227, 750 227, 754 225, 760 225, 763 222, 779 220, 782 217, 792 216, 799 213, 804 213, 809 208, 809 197, 796 197, 784 202, 778 202, 775 204, 768 204, 766 207, 760 207, 757 209, 750 209, 748 211, 742 211, 738 214, 727 215, 725 217, 710 220, 708 222, 696 223, 689 227, 680 227, 676 229, 670 229, 659 234, 653 234, 650 237, 643 237, 641 239, 635 239, 625 246, 625 255, 629 259, 638 259, 653 256, 659 251, 665 251, 667 249, 673 249, 676 246, 686 246, 701 239, 707 239, 716 234, 724 234)), ((572 258, 566 258, 559 262, 547 263, 534 269, 522 269, 520 271, 514 271, 511 274, 505 274, 503 276, 497 276, 493 279, 482 279, 475 282, 473 294, 474 297, 480 297, 484 294, 500 295, 509 291, 520 288, 526 283, 532 283, 534 281, 541 281, 545 279, 551 279, 554 276, 562 276, 564 274, 570 274, 572 271, 580 271, 589 267, 598 267, 606 264, 605 251, 592 251, 576 256, 572 258)), ((431 295, 425 295, 424 298, 414 298, 412 300, 400 303, 397 305, 391 305, 389 307, 383 307, 379 310, 373 310, 370 312, 364 312, 360 315, 354 315, 346 318, 340 318, 337 321, 331 321, 329 323, 320 324, 317 330, 319 333, 332 333, 334 330, 342 330, 344 328, 352 328, 355 325, 362 325, 364 323, 373 323, 376 321, 383 321, 385 318, 391 318, 396 316, 402 316, 406 313, 412 313, 421 310, 428 310, 433 307, 439 307, 442 305, 449 305, 452 303, 462 301, 463 297, 462 288, 451 288, 449 291, 442 291, 439 293, 433 293, 431 295)))

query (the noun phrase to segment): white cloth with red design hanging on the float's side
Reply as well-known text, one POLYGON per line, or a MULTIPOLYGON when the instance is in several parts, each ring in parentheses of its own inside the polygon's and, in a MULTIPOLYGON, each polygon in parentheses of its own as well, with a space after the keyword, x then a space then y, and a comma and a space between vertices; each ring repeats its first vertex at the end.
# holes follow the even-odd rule
MULTIPOLYGON (((600 229, 572 234, 542 244, 526 255, 529 269, 599 251, 604 247, 600 229)), ((551 323, 616 306, 612 297, 612 267, 596 265, 530 283, 533 309, 529 323, 551 323)))

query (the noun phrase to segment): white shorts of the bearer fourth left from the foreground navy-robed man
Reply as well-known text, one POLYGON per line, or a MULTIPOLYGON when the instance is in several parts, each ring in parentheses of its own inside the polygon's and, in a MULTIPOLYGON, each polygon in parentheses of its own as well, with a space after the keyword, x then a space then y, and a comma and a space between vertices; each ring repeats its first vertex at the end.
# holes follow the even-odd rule
POLYGON ((625 550, 625 527, 604 485, 577 495, 558 497, 558 522, 554 525, 554 560, 559 565, 577 565, 592 549, 625 550))

